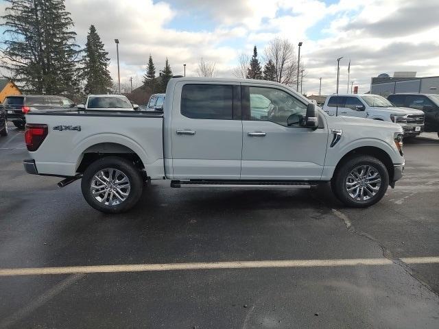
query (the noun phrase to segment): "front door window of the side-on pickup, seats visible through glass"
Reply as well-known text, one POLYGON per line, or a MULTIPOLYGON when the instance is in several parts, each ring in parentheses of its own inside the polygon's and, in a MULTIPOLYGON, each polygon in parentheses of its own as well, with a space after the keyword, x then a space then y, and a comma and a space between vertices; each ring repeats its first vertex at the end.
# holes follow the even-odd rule
POLYGON ((250 87, 250 120, 263 120, 284 126, 299 126, 307 106, 283 90, 250 87), (296 119, 294 119, 296 116, 296 119))

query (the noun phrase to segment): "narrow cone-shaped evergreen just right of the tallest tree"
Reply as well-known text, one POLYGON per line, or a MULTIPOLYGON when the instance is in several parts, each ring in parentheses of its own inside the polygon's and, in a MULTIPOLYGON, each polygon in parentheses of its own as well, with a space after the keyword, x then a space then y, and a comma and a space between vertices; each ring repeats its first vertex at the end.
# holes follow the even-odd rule
POLYGON ((108 71, 110 59, 107 56, 108 52, 104 49, 95 25, 91 25, 84 49, 82 71, 82 77, 86 80, 84 87, 86 94, 110 93, 112 80, 108 71))

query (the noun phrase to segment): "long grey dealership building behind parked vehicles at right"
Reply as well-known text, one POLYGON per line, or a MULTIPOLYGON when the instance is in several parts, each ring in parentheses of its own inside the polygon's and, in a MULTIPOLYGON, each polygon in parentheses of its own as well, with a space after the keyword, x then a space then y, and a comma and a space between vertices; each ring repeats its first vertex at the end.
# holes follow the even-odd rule
POLYGON ((372 77, 370 93, 387 97, 394 93, 439 94, 439 76, 416 77, 416 72, 395 72, 393 77, 372 77))

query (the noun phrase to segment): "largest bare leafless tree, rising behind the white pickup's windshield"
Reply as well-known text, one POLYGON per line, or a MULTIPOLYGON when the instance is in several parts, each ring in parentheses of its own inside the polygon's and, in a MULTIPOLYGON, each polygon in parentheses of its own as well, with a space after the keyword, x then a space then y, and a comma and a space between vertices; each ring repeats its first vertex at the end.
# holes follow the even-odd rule
MULTIPOLYGON (((274 64, 276 82, 292 86, 297 79, 297 56, 294 45, 287 39, 274 38, 265 48, 265 62, 274 64)), ((300 65, 302 67, 302 65, 300 65)))

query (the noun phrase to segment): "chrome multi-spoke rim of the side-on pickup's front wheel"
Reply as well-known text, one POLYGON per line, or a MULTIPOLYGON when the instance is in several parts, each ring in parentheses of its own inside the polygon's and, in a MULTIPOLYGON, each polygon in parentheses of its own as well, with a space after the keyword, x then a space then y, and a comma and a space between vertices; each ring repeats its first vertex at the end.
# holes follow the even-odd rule
POLYGON ((378 193, 381 186, 381 175, 376 168, 369 165, 355 167, 348 174, 345 186, 350 197, 365 201, 378 193))

